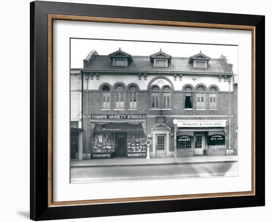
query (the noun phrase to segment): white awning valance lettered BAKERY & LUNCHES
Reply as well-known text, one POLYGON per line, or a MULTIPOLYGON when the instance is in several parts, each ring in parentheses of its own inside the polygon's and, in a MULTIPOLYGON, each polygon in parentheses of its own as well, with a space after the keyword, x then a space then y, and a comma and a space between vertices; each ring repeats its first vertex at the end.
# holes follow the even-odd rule
POLYGON ((174 119, 173 123, 185 128, 203 128, 203 127, 226 127, 226 119, 174 119))

